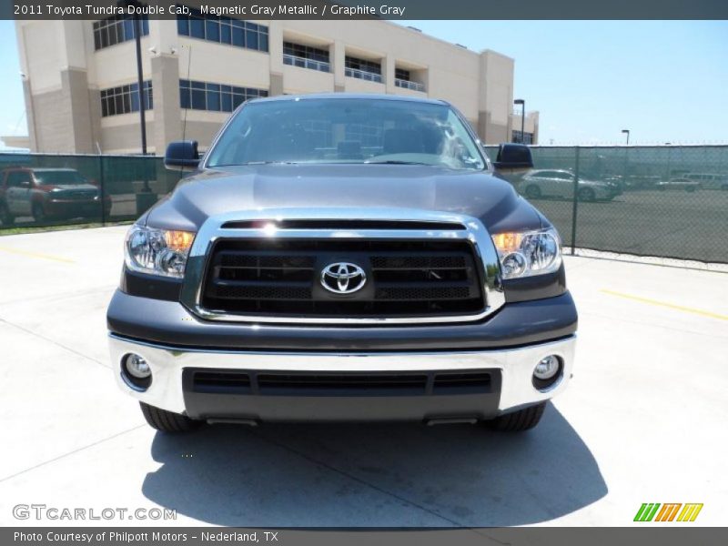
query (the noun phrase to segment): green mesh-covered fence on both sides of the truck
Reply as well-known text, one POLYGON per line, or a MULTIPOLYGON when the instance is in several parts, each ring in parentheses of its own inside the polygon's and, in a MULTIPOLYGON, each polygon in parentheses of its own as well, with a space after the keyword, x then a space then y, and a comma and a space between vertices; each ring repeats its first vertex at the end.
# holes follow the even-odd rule
MULTIPOLYGON (((531 149, 509 181, 565 247, 728 263, 728 146, 531 149)), ((0 231, 133 220, 179 177, 161 157, 0 154, 0 231)))

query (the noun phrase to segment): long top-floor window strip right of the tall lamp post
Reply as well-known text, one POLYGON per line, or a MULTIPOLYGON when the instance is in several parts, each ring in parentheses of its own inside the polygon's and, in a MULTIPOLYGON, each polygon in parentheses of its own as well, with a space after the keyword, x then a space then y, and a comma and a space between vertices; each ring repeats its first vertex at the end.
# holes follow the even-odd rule
POLYGON ((268 26, 230 17, 202 15, 191 8, 189 15, 177 15, 177 34, 255 51, 268 51, 268 26))

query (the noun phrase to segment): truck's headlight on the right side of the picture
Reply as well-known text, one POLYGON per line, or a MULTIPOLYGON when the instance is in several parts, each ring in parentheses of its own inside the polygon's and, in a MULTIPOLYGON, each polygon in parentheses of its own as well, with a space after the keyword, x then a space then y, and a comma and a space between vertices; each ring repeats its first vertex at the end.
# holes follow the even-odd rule
POLYGON ((556 229, 499 233, 493 236, 493 244, 503 278, 543 275, 561 267, 561 238, 556 229))

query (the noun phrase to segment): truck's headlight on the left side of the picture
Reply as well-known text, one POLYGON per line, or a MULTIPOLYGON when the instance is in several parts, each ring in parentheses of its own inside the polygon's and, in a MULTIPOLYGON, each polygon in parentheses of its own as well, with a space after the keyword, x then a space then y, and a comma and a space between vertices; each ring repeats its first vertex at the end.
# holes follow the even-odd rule
POLYGON ((124 258, 133 271, 182 278, 195 234, 132 226, 126 234, 124 258))

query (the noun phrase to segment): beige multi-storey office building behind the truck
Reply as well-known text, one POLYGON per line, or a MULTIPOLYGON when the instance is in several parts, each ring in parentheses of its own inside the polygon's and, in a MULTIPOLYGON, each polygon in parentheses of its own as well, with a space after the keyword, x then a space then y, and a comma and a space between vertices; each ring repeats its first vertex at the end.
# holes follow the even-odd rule
MULTIPOLYGON (((134 23, 17 21, 30 148, 140 151, 134 23)), ((488 144, 511 141, 513 59, 476 53, 387 21, 142 22, 150 153, 183 136, 205 148, 242 101, 314 92, 441 98, 488 144)), ((531 120, 531 121, 530 121, 531 120)), ((526 132, 538 136, 538 116, 526 132)))

